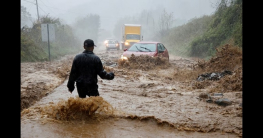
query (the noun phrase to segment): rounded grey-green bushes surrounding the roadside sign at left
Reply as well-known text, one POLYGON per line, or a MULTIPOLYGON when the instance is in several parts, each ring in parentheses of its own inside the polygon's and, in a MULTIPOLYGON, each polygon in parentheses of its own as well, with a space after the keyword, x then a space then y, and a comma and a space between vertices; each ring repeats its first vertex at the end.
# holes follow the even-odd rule
POLYGON ((58 18, 48 16, 41 17, 35 21, 33 26, 23 26, 21 28, 21 62, 49 61, 57 59, 67 54, 73 54, 80 51, 81 46, 75 39, 72 29, 68 25, 60 23, 58 18), (41 24, 55 25, 55 41, 42 41, 41 24))

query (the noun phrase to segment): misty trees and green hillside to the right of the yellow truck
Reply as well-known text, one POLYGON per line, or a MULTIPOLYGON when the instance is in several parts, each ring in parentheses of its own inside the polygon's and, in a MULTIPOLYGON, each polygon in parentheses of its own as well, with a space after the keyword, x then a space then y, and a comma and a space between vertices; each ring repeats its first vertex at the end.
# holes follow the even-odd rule
POLYGON ((119 19, 114 35, 122 38, 119 30, 124 23, 141 24, 143 40, 161 41, 172 55, 207 60, 225 44, 242 48, 242 0, 214 2, 213 14, 189 21, 175 19, 165 9, 145 10, 119 19))

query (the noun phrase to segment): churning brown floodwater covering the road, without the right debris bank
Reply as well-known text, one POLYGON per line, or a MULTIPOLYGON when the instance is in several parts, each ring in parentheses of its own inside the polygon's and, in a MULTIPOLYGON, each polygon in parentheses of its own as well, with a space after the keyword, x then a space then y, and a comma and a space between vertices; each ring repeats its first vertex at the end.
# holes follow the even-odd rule
MULTIPOLYGON (((181 68, 191 70, 196 61, 170 56, 170 65, 165 68, 120 68, 118 58, 122 50, 106 52, 104 47, 98 47, 94 52, 105 69, 115 73, 114 80, 102 80, 98 76, 100 96, 80 99, 76 89, 68 92, 68 78, 61 81, 47 73, 50 76, 47 80, 36 83, 47 90, 41 92, 42 96, 35 96, 41 98, 31 105, 30 96, 27 101, 22 99, 26 101, 21 111, 22 138, 242 137, 242 91, 211 91, 214 84, 196 89, 193 86, 200 84, 194 85, 195 81, 173 78, 181 68), (220 106, 208 102, 200 96, 204 93, 223 93, 219 99, 228 99, 231 104, 220 106)), ((72 58, 68 60, 68 64, 71 63, 72 58)), ((25 68, 28 70, 26 66, 23 70, 25 68)), ((32 66, 30 69, 27 74, 21 73, 22 97, 28 95, 29 91, 24 89, 29 89, 29 84, 37 82, 41 74, 42 79, 45 75, 36 75, 41 69, 32 66)), ((35 93, 37 91, 30 94, 35 93)))

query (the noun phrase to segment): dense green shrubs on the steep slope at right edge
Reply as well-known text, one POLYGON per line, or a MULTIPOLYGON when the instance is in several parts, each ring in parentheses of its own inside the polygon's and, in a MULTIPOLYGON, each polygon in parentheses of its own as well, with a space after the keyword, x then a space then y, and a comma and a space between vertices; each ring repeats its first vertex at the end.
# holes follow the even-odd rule
POLYGON ((229 7, 218 8, 209 29, 202 37, 197 37, 191 42, 189 56, 211 57, 216 53, 217 47, 230 40, 234 40, 234 45, 242 47, 242 2, 237 1, 239 0, 231 3, 229 7))

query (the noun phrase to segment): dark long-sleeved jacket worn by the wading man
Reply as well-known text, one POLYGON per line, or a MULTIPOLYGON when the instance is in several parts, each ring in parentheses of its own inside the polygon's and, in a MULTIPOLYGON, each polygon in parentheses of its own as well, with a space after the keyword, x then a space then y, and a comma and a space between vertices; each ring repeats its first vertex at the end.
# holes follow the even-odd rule
POLYGON ((67 87, 70 91, 73 91, 75 81, 96 85, 98 83, 97 75, 108 80, 111 76, 104 70, 100 58, 92 51, 85 50, 83 53, 76 55, 73 60, 67 87))

